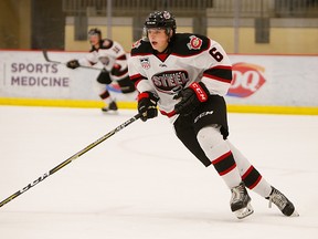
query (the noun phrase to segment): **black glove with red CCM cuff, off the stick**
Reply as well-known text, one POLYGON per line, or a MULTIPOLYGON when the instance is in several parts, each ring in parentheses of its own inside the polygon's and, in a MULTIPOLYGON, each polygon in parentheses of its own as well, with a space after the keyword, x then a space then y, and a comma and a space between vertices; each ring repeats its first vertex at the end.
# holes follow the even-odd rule
POLYGON ((183 89, 173 97, 174 100, 181 98, 181 101, 174 105, 174 111, 177 114, 189 115, 202 102, 208 101, 209 95, 210 92, 202 82, 193 82, 189 87, 183 89))

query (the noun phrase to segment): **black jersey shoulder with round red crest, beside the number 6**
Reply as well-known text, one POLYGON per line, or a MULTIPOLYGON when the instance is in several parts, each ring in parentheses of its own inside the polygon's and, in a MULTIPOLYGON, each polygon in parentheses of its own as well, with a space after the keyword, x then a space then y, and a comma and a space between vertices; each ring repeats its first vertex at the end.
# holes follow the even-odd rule
POLYGON ((199 34, 177 33, 172 44, 172 54, 191 56, 208 50, 210 39, 199 34))

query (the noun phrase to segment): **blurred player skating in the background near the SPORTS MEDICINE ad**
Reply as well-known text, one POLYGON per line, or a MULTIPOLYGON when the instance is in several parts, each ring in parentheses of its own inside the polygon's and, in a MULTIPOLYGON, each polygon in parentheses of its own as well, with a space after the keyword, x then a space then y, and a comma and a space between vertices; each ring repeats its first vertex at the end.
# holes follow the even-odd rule
POLYGON ((116 81, 123 94, 134 94, 135 85, 128 76, 127 56, 124 48, 110 39, 102 39, 99 29, 91 29, 88 39, 92 45, 89 53, 80 60, 71 60, 66 63, 70 69, 77 69, 81 65, 94 65, 102 62, 104 69, 97 76, 96 89, 99 97, 105 102, 104 112, 117 111, 115 98, 109 94, 106 85, 116 81))

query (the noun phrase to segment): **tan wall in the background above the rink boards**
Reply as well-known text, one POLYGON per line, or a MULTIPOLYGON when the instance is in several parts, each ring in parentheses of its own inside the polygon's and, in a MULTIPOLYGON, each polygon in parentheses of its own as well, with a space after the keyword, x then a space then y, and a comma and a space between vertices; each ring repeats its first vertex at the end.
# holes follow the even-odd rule
MULTIPOLYGON (((192 32, 192 18, 177 18, 178 32, 192 32)), ((131 18, 114 18, 112 38, 130 51, 134 43, 131 18)), ((227 53, 258 53, 258 54, 318 54, 318 21, 317 19, 271 19, 268 43, 255 42, 255 20, 243 19, 240 21, 237 35, 233 19, 208 19, 206 35, 219 41, 227 53), (306 25, 306 27, 304 27, 306 25), (235 43, 236 42, 236 43, 235 43), (235 49, 237 44, 237 49, 235 49)), ((99 28, 107 38, 106 18, 88 19, 89 28, 99 28)), ((140 25, 142 28, 142 25, 140 25)), ((141 37, 141 35, 140 35, 141 37)), ((74 18, 67 17, 65 24, 65 50, 86 51, 87 41, 74 40, 74 18)))

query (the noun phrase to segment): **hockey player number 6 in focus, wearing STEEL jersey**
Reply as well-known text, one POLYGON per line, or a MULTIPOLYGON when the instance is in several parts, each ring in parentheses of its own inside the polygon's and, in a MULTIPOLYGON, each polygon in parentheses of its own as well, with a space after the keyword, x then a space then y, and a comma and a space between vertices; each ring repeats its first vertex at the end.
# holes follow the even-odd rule
POLYGON ((145 22, 145 37, 132 45, 128 71, 139 92, 141 119, 156 117, 159 106, 184 146, 223 178, 237 218, 253 214, 246 188, 268 199, 269 206, 274 202, 285 216, 298 216, 292 201, 227 139, 223 96, 232 66, 223 48, 204 35, 176 33, 176 29, 170 12, 152 12, 145 22))

